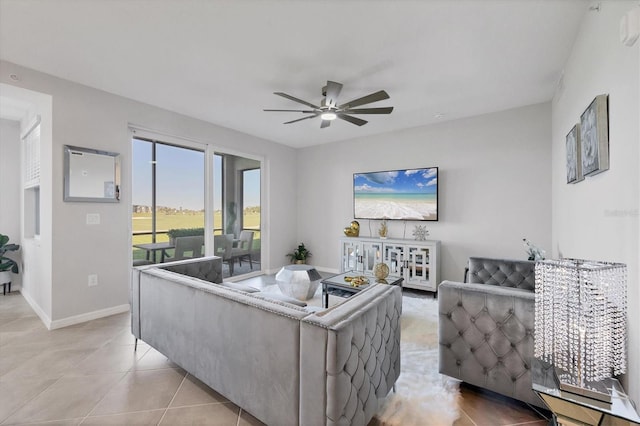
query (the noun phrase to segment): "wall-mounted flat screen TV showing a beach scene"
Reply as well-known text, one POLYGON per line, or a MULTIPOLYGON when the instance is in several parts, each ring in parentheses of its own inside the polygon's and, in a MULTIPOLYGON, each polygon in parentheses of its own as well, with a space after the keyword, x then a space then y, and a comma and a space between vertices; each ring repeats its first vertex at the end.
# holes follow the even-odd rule
POLYGON ((438 168, 353 174, 356 219, 438 220, 438 168))

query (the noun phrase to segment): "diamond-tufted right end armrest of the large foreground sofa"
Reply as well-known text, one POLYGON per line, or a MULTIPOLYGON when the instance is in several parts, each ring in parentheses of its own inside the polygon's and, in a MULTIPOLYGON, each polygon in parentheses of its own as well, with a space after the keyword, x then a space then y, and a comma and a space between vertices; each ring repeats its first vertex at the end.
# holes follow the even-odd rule
POLYGON ((367 424, 400 375, 400 286, 378 284, 300 329, 300 424, 367 424))

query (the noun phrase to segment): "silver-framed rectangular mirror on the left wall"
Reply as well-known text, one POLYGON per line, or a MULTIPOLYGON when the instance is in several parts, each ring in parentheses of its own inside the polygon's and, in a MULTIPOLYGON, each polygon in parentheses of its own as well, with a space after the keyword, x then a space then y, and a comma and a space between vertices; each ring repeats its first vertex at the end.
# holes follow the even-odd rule
POLYGON ((120 154, 64 146, 64 201, 117 203, 120 154))

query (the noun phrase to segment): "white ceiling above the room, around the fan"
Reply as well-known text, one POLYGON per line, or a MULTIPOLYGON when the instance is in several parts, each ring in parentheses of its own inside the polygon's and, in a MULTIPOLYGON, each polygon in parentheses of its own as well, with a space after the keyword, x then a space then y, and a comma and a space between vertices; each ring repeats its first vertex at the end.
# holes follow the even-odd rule
MULTIPOLYGON (((549 101, 585 0, 0 0, 0 58, 293 147, 549 101), (263 108, 384 89, 358 127, 263 108), (435 118, 436 114, 444 114, 435 118)), ((304 109, 304 106, 302 106, 304 109)))

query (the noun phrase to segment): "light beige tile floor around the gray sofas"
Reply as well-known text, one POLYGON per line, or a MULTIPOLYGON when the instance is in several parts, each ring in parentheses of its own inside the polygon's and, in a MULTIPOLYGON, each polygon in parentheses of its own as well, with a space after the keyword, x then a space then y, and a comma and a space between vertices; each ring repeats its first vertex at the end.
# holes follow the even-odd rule
MULTIPOLYGON (((48 331, 19 292, 0 297, 0 424, 262 424, 148 345, 134 352, 129 318, 48 331)), ((546 424, 517 401, 473 388, 462 387, 460 408, 457 426, 546 424)))

